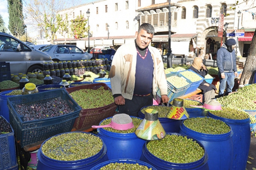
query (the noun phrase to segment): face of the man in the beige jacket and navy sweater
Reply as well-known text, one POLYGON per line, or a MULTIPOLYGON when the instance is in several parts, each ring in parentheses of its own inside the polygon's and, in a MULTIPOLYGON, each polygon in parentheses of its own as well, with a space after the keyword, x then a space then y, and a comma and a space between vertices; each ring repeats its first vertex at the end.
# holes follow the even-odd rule
POLYGON ((149 45, 149 43, 152 41, 153 34, 148 34, 147 31, 140 30, 140 33, 136 31, 135 37, 136 37, 137 45, 140 48, 145 49, 149 45))

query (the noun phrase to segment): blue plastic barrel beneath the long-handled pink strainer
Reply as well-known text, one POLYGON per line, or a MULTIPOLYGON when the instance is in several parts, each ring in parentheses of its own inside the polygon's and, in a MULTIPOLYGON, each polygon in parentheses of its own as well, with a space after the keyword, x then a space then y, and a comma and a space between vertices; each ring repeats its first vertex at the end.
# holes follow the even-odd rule
POLYGON ((109 160, 120 158, 140 159, 142 146, 146 141, 138 138, 135 133, 114 133, 104 128, 98 128, 97 131, 97 135, 107 146, 109 160))

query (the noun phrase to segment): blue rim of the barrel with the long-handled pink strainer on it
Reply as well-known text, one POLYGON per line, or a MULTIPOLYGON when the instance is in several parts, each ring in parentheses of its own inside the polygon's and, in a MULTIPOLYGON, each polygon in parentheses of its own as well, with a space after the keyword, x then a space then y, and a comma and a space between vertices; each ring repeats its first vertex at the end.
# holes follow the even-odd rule
MULTIPOLYGON (((113 116, 111 116, 111 117, 107 117, 106 119, 110 119, 110 118, 112 118, 113 116)), ((135 117, 135 116, 130 116, 130 117, 134 117, 134 118, 138 118, 138 119, 141 119, 140 117, 135 117)), ((106 120, 106 119, 103 119, 102 121, 104 121, 104 120, 106 120)), ((99 123, 99 125, 102 123, 102 121, 100 121, 100 123, 99 123)), ((126 137, 126 138, 129 138, 129 139, 133 139, 133 138, 137 138, 137 136, 135 135, 135 132, 133 132, 133 133, 115 133, 115 132, 110 132, 109 130, 105 130, 104 128, 97 128, 97 132, 98 133, 100 133, 100 135, 102 135, 102 136, 113 136, 113 135, 119 135, 122 139, 124 138, 124 137, 126 137), (103 133, 101 133, 101 131, 103 132, 103 133), (131 138, 131 137, 133 137, 133 138, 131 138)), ((116 138, 116 137, 115 137, 116 138)))

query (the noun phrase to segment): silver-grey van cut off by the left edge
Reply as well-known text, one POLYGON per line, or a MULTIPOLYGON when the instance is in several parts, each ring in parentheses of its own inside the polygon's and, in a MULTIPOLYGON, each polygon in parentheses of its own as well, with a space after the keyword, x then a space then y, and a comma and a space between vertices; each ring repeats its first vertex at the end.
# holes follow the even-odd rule
POLYGON ((52 58, 33 49, 12 35, 0 32, 0 62, 10 63, 11 74, 43 72, 43 64, 52 58))

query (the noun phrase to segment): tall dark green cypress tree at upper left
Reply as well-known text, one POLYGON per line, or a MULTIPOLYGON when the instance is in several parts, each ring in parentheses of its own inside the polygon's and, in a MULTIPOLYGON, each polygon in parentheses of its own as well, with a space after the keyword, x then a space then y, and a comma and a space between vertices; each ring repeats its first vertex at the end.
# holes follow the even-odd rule
POLYGON ((9 12, 9 30, 14 36, 21 37, 25 34, 22 0, 7 0, 9 12))

